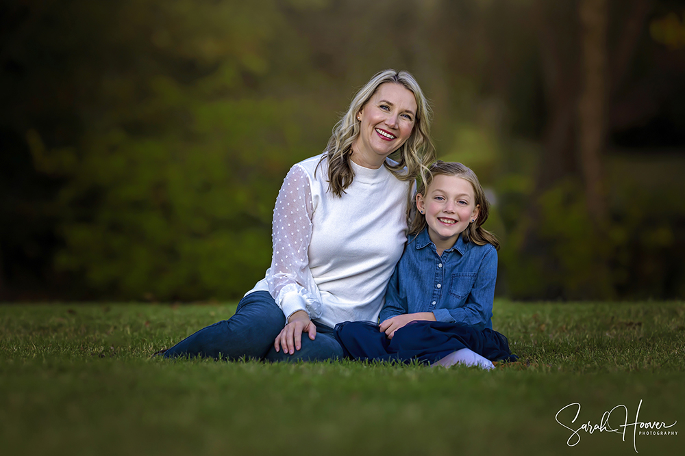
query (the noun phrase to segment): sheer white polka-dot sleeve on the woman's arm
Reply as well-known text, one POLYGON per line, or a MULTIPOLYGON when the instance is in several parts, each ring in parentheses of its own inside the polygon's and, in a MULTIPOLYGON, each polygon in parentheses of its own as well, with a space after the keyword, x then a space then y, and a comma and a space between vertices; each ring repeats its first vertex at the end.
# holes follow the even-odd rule
POLYGON ((321 295, 309 269, 314 206, 310 180, 298 165, 290 168, 273 210, 273 257, 266 273, 269 292, 286 318, 306 310, 321 317, 321 295))

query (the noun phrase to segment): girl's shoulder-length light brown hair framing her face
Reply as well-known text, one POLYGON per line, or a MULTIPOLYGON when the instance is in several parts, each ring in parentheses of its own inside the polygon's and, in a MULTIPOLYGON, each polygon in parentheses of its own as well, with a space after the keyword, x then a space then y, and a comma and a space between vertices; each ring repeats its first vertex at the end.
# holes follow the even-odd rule
MULTIPOLYGON (((483 190, 482 185, 480 185, 478 176, 475 175, 475 172, 473 172, 471 168, 462 165, 462 163, 438 160, 423 172, 417 193, 421 193, 421 195, 425 196, 426 191, 428 187, 430 187, 435 176, 439 176, 440 174, 445 176, 456 176, 468 180, 469 183, 471 183, 471 187, 473 187, 475 205, 480 206, 478 217, 476 217, 475 222, 469 223, 469 226, 466 226, 466 229, 462 231, 462 239, 466 242, 473 242, 476 245, 490 243, 495 246, 495 249, 499 250, 499 241, 497 240, 497 237, 495 237, 495 234, 484 229, 482 226, 488 219, 488 215, 490 215, 490 202, 488 202, 488 198, 485 196, 485 191, 483 190)), ((410 222, 409 234, 419 234, 421 231, 425 230, 427 225, 428 222, 426 222, 425 215, 417 212, 410 222)))

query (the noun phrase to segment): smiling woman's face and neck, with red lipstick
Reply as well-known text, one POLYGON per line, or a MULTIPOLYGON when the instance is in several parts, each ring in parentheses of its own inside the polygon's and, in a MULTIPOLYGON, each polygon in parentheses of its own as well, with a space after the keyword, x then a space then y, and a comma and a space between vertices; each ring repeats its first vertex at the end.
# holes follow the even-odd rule
POLYGON ((357 115, 360 133, 351 159, 358 165, 378 168, 412 135, 416 98, 403 85, 383 83, 357 115))

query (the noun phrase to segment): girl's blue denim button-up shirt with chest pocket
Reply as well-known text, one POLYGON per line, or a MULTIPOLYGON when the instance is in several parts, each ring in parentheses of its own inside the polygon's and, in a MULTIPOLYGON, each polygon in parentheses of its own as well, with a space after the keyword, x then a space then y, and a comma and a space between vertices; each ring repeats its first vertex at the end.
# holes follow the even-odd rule
POLYGON ((390 278, 379 319, 433 312, 437 321, 493 329, 497 250, 460 236, 438 256, 425 229, 407 242, 390 278))

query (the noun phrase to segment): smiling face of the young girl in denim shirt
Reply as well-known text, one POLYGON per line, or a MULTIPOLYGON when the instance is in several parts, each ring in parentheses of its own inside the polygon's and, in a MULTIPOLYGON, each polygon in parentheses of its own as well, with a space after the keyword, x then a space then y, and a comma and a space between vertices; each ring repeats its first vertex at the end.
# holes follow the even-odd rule
POLYGON ((438 174, 426 189, 416 195, 416 208, 426 216, 428 234, 440 250, 454 245, 471 220, 478 217, 473 185, 457 176, 438 174))

